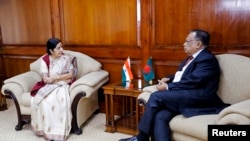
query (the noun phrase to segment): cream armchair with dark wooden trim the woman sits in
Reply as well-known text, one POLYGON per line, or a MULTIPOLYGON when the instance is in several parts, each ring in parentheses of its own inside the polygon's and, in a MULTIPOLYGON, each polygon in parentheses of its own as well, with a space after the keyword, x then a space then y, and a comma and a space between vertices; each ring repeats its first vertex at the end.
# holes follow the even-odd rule
MULTIPOLYGON (((77 58, 77 80, 70 86, 72 132, 81 134, 81 125, 98 111, 98 90, 109 80, 107 71, 101 69, 101 64, 95 59, 74 51, 65 53, 77 58)), ((8 95, 15 103, 18 123, 16 130, 31 120, 30 91, 34 84, 41 80, 39 67, 41 57, 30 64, 30 71, 11 77, 4 81, 1 92, 8 95)))

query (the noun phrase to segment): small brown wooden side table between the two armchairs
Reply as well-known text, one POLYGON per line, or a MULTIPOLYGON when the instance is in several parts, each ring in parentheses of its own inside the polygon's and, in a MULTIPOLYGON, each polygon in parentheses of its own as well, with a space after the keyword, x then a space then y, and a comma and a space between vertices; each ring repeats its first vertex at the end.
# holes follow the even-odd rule
POLYGON ((103 86, 106 107, 106 132, 122 132, 136 135, 140 118, 140 108, 137 97, 146 84, 141 79, 135 79, 131 83, 122 82, 103 86), (122 98, 122 115, 115 119, 114 96, 122 98), (134 111, 135 109, 135 111, 134 111))

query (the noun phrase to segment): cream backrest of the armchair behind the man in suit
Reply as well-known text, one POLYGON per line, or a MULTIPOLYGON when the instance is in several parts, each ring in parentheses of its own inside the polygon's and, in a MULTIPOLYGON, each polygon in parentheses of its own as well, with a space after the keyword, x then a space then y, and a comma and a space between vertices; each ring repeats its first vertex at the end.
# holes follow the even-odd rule
POLYGON ((250 99, 250 58, 236 54, 216 55, 221 68, 218 95, 221 99, 234 104, 250 99))

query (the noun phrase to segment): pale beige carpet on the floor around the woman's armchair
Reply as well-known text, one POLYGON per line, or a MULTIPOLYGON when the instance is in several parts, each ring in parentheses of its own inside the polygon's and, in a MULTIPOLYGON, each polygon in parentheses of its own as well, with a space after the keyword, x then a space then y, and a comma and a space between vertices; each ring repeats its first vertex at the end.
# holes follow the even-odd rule
MULTIPOLYGON (((0 141, 44 141, 43 137, 36 136, 30 124, 23 126, 20 131, 15 130, 17 116, 14 104, 7 100, 8 109, 0 111, 0 141)), ((67 141, 118 141, 131 135, 122 133, 107 133, 105 130, 105 114, 99 113, 93 116, 82 127, 82 134, 70 134, 67 141)))

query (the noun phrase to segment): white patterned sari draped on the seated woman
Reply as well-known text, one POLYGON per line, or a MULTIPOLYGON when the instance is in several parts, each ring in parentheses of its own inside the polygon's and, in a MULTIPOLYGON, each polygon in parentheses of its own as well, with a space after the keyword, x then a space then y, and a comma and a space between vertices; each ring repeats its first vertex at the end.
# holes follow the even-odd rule
MULTIPOLYGON (((73 56, 63 55, 50 61, 49 66, 46 63, 42 59, 42 74, 57 76, 73 72, 76 77, 76 58, 73 56)), ((69 86, 66 81, 45 84, 32 97, 31 126, 36 135, 44 136, 47 140, 67 139, 72 119, 69 86)))

